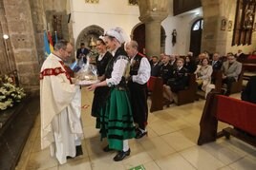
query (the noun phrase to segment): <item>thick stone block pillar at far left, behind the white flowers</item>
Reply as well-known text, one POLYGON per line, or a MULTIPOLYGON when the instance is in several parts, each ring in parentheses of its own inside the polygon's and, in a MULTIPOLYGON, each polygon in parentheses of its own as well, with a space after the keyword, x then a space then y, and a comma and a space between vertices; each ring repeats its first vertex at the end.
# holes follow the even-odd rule
MULTIPOLYGON (((9 47, 14 56, 11 62, 15 63, 19 83, 30 91, 37 89, 39 86, 39 64, 30 1, 4 0, 3 7, 7 21, 6 28, 8 28, 7 32, 10 36, 9 47)), ((14 67, 14 65, 12 66, 14 67)))

